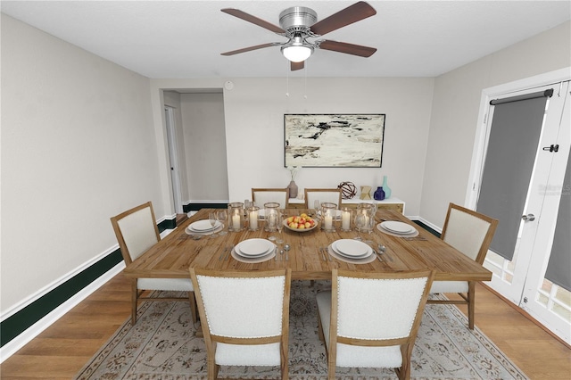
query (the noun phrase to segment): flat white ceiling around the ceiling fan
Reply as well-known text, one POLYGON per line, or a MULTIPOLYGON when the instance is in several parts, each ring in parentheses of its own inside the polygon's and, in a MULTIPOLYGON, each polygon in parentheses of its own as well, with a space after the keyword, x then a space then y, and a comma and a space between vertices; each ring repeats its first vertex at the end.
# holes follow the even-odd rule
POLYGON ((322 38, 377 47, 370 58, 318 50, 289 71, 267 29, 220 12, 238 8, 279 25, 308 6, 318 20, 355 1, 2 1, 2 12, 149 78, 434 77, 570 20, 571 1, 369 1, 377 15, 322 38))

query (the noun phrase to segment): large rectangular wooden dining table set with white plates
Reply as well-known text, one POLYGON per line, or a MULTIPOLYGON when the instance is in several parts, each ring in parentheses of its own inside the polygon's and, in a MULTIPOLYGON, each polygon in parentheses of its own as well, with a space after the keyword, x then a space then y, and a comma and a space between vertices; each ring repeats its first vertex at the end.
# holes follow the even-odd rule
MULTIPOLYGON (((189 277, 188 268, 209 268, 215 270, 268 270, 276 268, 291 268, 292 278, 298 280, 323 280, 331 278, 333 268, 343 268, 363 272, 394 272, 411 269, 432 268, 435 271, 434 280, 441 281, 489 281, 492 272, 476 261, 446 244, 442 239, 432 235, 426 229, 419 227, 398 211, 379 209, 376 222, 396 220, 417 228, 418 236, 401 237, 381 232, 373 227, 370 233, 362 233, 364 242, 377 252, 379 245, 385 246, 385 252, 379 255, 380 260, 366 264, 345 262, 327 254, 327 246, 339 239, 353 239, 357 231, 341 231, 335 226, 335 231, 323 231, 320 227, 310 231, 297 232, 284 228, 281 237, 283 244, 289 244, 290 250, 277 254, 276 258, 262 262, 242 262, 231 254, 232 247, 246 239, 269 238, 277 236, 277 232, 267 232, 263 228, 250 231, 244 228, 238 232, 228 232, 226 235, 189 235, 186 227, 191 223, 208 219, 209 212, 203 209, 195 213, 169 235, 136 260, 133 260, 124 274, 127 277, 189 277), (324 251, 321 249, 325 247, 324 251)), ((299 215, 304 212, 299 209, 287 210, 288 215, 299 215)), ((310 211, 305 211, 310 213, 310 211)), ((337 223, 339 224, 339 223, 337 223)), ((225 226, 228 231, 228 224, 225 226)), ((278 249, 283 244, 277 244, 278 249)))

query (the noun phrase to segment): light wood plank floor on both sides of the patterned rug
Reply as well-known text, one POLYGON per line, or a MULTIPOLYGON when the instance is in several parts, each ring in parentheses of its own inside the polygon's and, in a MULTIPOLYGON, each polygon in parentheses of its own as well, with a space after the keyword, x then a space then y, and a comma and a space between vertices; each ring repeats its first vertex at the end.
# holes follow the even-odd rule
MULTIPOLYGON (((2 379, 70 379, 129 317, 129 283, 112 278, 2 364, 2 379)), ((476 326, 531 379, 570 379, 571 350, 477 285, 476 326)), ((430 305, 426 306, 430 307, 430 305)), ((463 310, 466 311, 466 310, 463 310)))

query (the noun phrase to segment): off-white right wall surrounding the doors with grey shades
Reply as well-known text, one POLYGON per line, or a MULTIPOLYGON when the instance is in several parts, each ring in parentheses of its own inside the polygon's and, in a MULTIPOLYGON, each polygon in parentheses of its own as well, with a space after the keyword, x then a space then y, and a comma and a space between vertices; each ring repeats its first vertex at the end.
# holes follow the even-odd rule
MULTIPOLYGON (((449 202, 464 204, 482 90, 571 66, 571 23, 436 78, 420 215, 443 226, 449 202)), ((408 207, 408 205, 407 205, 408 207)))

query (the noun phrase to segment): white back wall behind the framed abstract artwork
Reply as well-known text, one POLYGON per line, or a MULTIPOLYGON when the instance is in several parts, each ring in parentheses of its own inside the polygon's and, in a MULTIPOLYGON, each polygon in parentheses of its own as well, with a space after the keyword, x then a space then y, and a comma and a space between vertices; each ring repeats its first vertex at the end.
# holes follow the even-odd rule
POLYGON ((343 181, 380 186, 389 179, 393 196, 418 215, 426 154, 433 78, 232 79, 225 90, 230 201, 251 197, 252 187, 285 187, 284 113, 385 113, 383 166, 303 168, 295 179, 305 187, 336 187, 343 181), (307 99, 304 98, 307 95, 307 99))

